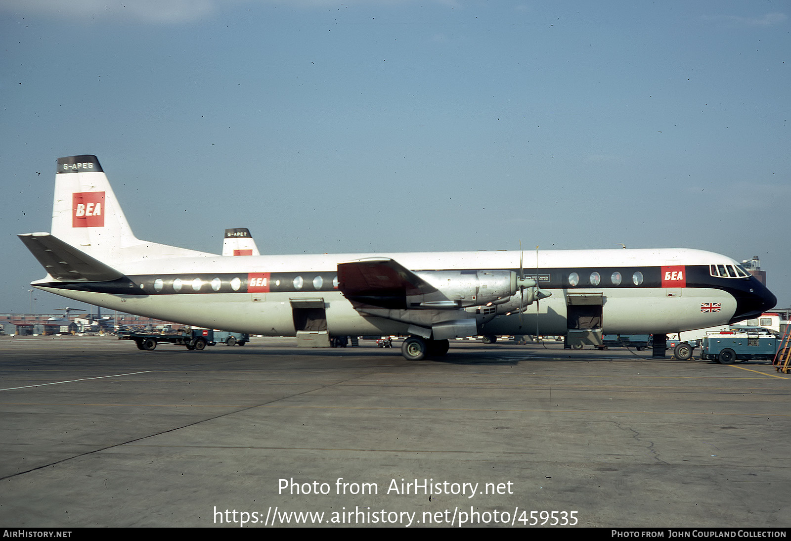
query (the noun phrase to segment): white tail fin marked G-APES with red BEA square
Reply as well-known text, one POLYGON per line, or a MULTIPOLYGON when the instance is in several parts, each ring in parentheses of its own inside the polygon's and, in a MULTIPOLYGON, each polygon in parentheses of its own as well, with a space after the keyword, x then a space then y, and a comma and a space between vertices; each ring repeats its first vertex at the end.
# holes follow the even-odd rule
POLYGON ((58 158, 52 235, 113 264, 138 259, 213 255, 139 240, 96 156, 58 158))

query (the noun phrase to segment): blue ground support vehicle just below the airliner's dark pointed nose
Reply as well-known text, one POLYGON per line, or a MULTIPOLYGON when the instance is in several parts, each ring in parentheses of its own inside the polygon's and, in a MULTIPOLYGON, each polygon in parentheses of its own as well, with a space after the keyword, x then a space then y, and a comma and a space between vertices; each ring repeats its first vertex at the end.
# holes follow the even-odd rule
POLYGON ((706 334, 702 340, 701 358, 723 365, 749 360, 773 360, 780 346, 776 335, 721 331, 706 334))

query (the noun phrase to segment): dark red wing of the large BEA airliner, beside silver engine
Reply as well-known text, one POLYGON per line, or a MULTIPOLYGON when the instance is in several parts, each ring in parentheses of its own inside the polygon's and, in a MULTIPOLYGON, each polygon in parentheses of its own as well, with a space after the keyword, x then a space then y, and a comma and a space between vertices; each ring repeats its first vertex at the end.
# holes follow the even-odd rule
POLYGON ((437 288, 393 259, 359 259, 338 265, 338 289, 350 301, 384 308, 407 308, 407 297, 437 288))

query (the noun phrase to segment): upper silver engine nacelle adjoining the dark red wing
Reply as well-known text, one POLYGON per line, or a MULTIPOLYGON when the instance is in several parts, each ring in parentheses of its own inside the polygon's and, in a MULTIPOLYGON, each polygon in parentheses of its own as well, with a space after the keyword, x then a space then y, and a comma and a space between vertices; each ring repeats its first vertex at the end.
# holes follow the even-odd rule
POLYGON ((435 293, 422 296, 421 305, 425 308, 442 308, 445 304, 445 308, 498 304, 517 293, 514 271, 417 271, 414 274, 437 288, 435 293))

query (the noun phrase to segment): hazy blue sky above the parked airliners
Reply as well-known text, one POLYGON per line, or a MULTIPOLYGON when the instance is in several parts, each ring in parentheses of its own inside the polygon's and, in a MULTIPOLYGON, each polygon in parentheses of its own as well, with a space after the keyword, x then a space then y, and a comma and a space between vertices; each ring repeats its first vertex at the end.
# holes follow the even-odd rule
MULTIPOLYGON (((96 154, 136 236, 262 253, 700 248, 791 306, 789 2, 3 0, 0 312, 96 154)), ((74 301, 70 301, 74 305, 74 301)))

